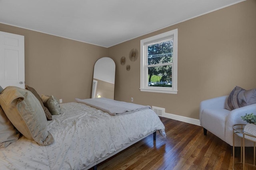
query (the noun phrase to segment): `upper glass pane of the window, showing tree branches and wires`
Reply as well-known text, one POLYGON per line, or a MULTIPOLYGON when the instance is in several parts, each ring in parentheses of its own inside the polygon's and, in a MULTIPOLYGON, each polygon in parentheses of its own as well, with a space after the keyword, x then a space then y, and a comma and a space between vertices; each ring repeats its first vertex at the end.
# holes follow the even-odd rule
POLYGON ((148 46, 148 65, 172 63, 173 39, 148 46))

